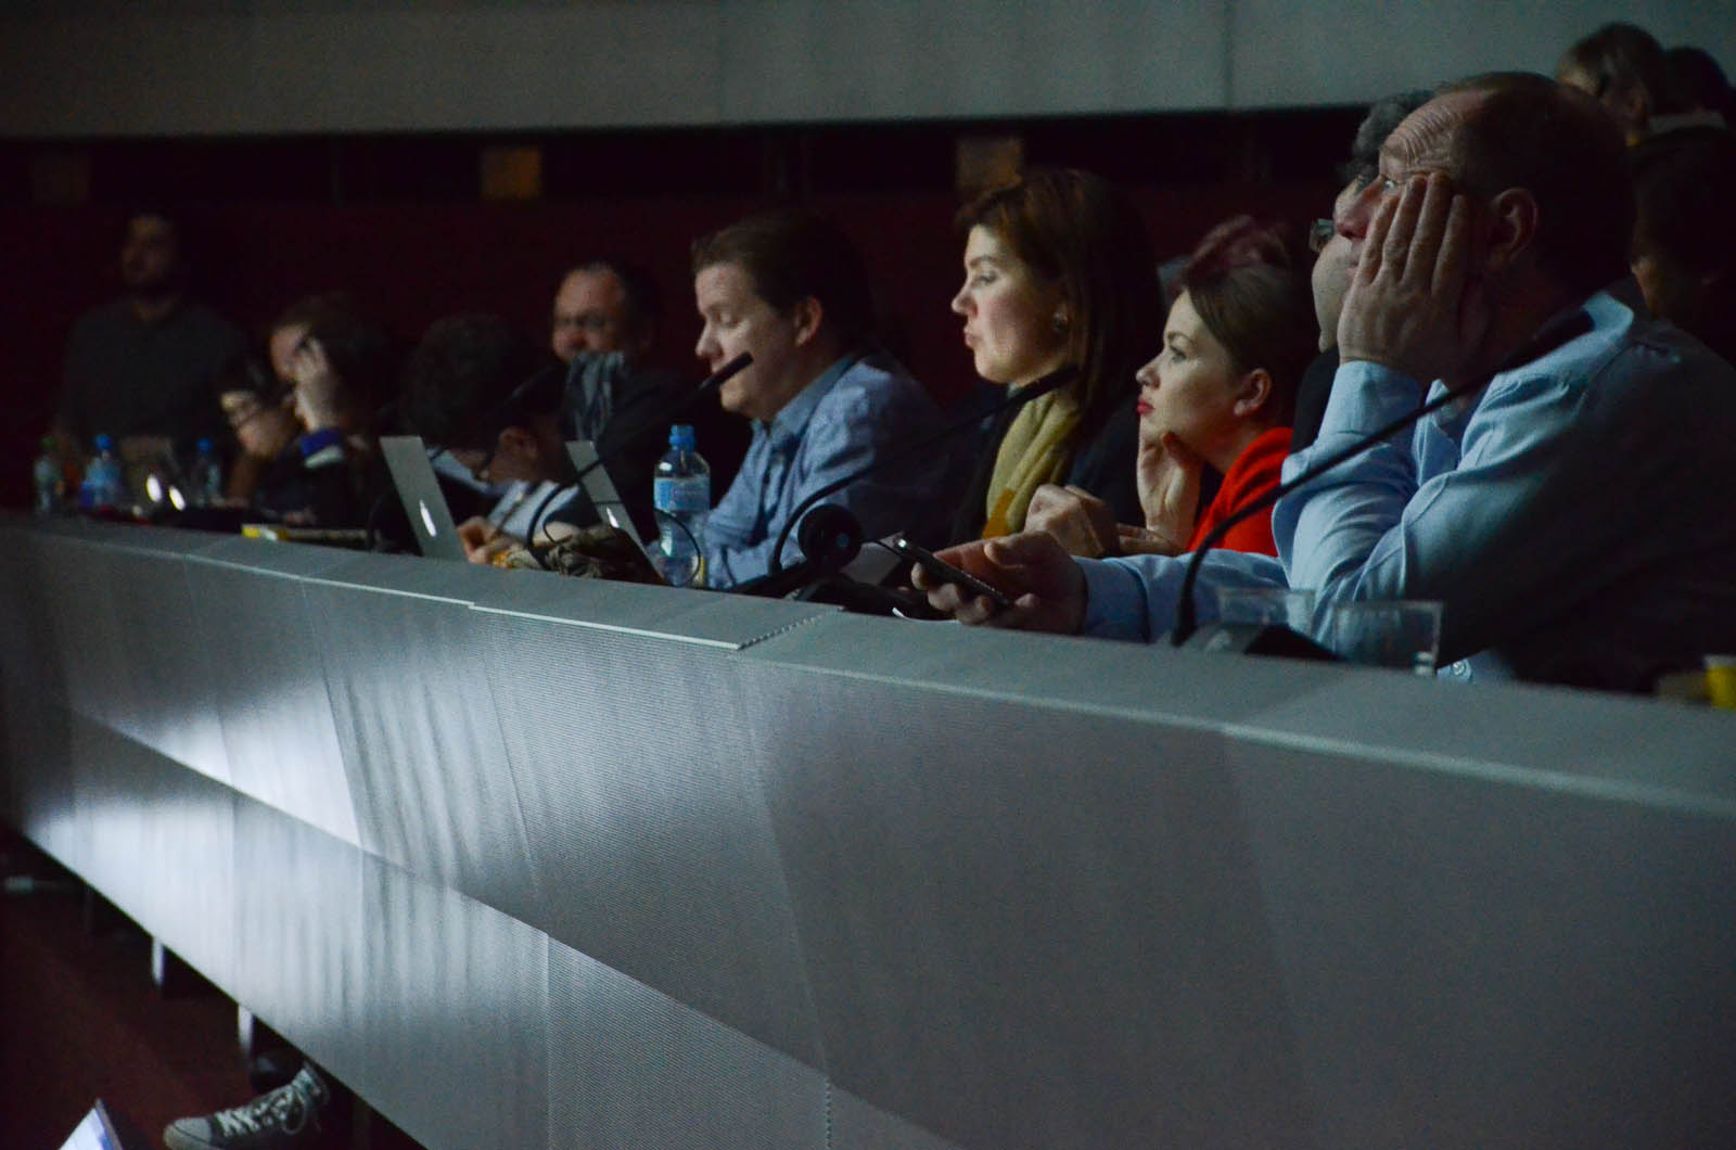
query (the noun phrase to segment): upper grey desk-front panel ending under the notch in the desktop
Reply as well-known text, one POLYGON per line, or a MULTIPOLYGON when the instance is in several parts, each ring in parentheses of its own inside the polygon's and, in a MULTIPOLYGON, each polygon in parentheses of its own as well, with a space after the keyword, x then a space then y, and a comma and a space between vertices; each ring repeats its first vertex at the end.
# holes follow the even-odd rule
POLYGON ((549 933, 819 1065, 729 655, 488 618, 549 933))

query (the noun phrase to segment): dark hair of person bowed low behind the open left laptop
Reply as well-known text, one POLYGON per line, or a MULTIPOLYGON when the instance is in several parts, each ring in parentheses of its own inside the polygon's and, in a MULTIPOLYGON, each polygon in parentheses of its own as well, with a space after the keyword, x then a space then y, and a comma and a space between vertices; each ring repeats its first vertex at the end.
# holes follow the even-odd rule
POLYGON ((500 316, 448 316, 429 325, 404 368, 404 429, 429 443, 486 448, 503 427, 561 406, 554 354, 500 316))

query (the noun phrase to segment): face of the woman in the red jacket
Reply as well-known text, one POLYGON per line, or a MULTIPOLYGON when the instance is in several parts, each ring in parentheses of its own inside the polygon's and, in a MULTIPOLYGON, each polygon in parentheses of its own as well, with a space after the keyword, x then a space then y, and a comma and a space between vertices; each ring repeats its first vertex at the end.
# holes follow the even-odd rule
POLYGON ((1139 368, 1137 379, 1142 443, 1175 433, 1196 455, 1210 460, 1243 422, 1236 412, 1241 391, 1236 365, 1194 311, 1187 292, 1175 297, 1163 323, 1163 351, 1139 368))

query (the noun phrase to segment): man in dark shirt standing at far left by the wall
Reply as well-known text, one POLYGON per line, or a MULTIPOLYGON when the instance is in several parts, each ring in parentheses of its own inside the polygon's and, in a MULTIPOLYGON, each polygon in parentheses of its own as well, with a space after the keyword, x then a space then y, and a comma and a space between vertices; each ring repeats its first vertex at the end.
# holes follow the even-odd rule
POLYGON ((191 452, 224 433, 212 380, 243 349, 241 334, 186 295, 181 229, 156 212, 127 221, 127 294, 87 313, 66 340, 56 433, 89 452, 111 434, 127 459, 191 452))

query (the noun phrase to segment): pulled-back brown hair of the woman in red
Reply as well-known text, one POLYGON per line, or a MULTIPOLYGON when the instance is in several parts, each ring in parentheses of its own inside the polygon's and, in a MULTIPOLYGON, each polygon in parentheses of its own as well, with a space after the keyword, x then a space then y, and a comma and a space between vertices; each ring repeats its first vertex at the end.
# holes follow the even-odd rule
POLYGON ((1297 266, 1276 226, 1238 215, 1207 233, 1180 280, 1236 372, 1266 368, 1272 377, 1266 413, 1274 424, 1290 422, 1319 337, 1307 276, 1297 266))

